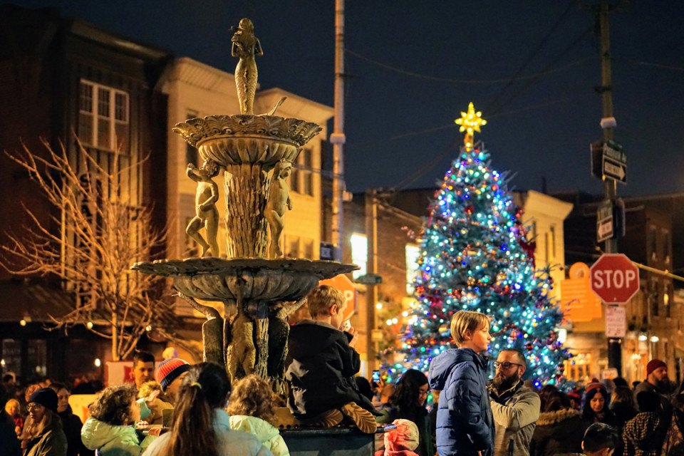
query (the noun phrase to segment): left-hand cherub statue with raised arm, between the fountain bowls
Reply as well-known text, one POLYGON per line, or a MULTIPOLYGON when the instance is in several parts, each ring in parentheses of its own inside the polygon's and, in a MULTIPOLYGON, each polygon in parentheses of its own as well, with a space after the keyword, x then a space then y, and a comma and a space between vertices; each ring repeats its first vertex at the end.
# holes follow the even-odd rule
POLYGON ((195 164, 188 163, 187 177, 197 182, 195 194, 195 217, 187 224, 185 232, 202 247, 202 257, 212 254, 219 256, 219 244, 216 237, 219 230, 219 211, 216 202, 219 200, 219 186, 212 180, 219 172, 219 166, 214 160, 204 160, 202 167, 197 169, 195 164), (199 229, 204 226, 207 240, 204 241, 199 229))

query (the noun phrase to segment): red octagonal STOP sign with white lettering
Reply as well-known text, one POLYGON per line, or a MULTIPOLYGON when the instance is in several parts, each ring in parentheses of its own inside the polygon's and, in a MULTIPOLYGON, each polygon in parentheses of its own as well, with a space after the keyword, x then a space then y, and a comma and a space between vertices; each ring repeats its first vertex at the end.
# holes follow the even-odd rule
POLYGON ((591 290, 608 304, 621 304, 639 291, 639 270, 623 254, 603 254, 591 266, 591 290))

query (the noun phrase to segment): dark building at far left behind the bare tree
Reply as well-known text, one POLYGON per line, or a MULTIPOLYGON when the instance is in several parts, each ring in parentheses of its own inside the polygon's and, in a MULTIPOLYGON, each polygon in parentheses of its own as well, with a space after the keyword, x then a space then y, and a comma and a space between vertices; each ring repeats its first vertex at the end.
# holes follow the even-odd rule
MULTIPOLYGON (((0 37, 0 147, 46 156, 41 141, 53 150, 64 148, 77 172, 88 175, 79 159, 76 137, 105 170, 113 169, 113 151, 122 160, 149 155, 145 165, 125 176, 122 191, 134 206, 148 204, 165 189, 154 175, 157 160, 165 160, 166 98, 157 90, 170 56, 166 51, 134 43, 78 19, 66 19, 55 9, 0 6, 4 18, 0 37), (11 109, 10 105, 17 108, 11 109)), ((6 157, 1 157, 0 244, 5 233, 19 233, 30 224, 24 206, 49 231, 74 242, 74 227, 61 224, 61 214, 41 195, 35 182, 6 157)), ((100 189, 105 197, 108 189, 100 189)), ((153 213, 163 222, 163 207, 153 213)), ((61 261, 71 261, 62 257, 61 261)), ((49 316, 59 317, 78 305, 68 281, 53 277, 17 279, 0 272, 6 291, 0 313, 0 358, 4 370, 23 380, 31 375, 66 379, 66 374, 101 373, 108 342, 75 328, 46 331, 49 316), (21 318, 9 309, 21 309, 21 318)))

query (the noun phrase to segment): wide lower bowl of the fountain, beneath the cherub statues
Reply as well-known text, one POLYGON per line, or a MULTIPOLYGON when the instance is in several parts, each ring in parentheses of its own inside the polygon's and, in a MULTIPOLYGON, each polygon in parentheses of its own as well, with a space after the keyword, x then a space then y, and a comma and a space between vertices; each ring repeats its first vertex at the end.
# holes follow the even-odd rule
POLYGON ((182 294, 205 301, 298 301, 318 281, 358 269, 309 259, 188 258, 141 261, 134 271, 172 277, 182 294))

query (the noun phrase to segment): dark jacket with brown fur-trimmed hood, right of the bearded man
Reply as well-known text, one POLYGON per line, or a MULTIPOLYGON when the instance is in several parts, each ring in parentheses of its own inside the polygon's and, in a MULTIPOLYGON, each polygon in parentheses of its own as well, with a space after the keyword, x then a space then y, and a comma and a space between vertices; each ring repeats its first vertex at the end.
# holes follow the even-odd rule
POLYGON ((529 444, 530 456, 551 456, 581 453, 584 431, 589 424, 582 420, 579 410, 564 408, 555 412, 539 413, 537 427, 529 444))

